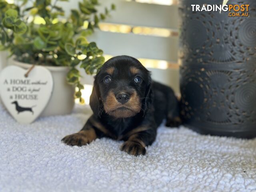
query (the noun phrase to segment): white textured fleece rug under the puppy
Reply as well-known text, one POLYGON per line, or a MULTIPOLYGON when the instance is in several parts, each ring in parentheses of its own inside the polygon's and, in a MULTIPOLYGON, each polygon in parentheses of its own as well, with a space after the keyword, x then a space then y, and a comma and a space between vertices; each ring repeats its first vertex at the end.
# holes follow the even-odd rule
POLYGON ((139 157, 108 138, 82 147, 60 142, 90 113, 76 106, 24 126, 0 106, 0 191, 256 191, 256 139, 162 126, 139 157))

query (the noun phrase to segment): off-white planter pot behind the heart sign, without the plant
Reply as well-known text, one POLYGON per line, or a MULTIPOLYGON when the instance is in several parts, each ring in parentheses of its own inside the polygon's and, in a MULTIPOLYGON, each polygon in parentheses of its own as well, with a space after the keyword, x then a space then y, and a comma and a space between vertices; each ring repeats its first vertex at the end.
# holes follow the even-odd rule
MULTIPOLYGON (((31 64, 26 64, 13 60, 12 64, 24 69, 31 68, 31 64)), ((52 96, 40 116, 65 115, 70 114, 74 108, 75 87, 68 84, 66 74, 69 68, 64 66, 45 66, 50 70, 53 78, 52 96)))

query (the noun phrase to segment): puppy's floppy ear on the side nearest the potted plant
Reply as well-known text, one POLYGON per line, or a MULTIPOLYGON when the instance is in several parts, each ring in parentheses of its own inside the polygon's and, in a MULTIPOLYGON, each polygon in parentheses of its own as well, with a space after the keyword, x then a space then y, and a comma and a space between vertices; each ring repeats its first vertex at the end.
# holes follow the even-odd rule
POLYGON ((100 115, 100 108, 101 108, 100 90, 96 80, 94 80, 92 94, 90 96, 90 107, 96 116, 100 115))

